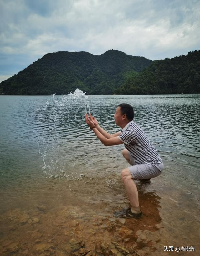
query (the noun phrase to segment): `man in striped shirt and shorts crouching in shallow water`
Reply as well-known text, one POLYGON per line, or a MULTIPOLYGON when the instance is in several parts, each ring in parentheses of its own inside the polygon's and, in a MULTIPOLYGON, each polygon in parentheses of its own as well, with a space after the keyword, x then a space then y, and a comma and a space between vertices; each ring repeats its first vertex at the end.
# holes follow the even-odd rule
POLYGON ((141 218, 142 212, 139 207, 137 187, 133 180, 148 182, 151 178, 159 176, 164 166, 146 134, 133 121, 134 111, 131 105, 125 103, 118 105, 114 117, 116 125, 120 126, 122 130, 113 135, 102 129, 91 114, 89 117, 86 114, 85 120, 105 146, 124 144, 126 149, 122 151, 122 155, 131 166, 122 170, 121 177, 131 207, 115 212, 115 216, 141 218))

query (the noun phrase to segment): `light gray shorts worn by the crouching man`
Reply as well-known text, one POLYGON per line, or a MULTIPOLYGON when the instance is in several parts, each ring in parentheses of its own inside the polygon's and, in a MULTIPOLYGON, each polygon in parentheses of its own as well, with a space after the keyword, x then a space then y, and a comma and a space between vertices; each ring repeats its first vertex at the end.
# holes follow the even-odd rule
POLYGON ((160 164, 153 164, 148 162, 143 162, 140 165, 137 165, 132 156, 130 155, 130 162, 131 165, 128 169, 135 180, 144 180, 144 179, 151 179, 159 176, 162 173, 164 168, 163 163, 160 164))

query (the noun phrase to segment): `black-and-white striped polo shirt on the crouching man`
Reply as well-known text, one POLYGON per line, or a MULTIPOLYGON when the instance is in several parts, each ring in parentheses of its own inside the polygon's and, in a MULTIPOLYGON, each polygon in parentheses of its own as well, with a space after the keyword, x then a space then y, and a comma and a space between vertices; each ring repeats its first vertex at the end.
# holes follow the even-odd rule
POLYGON ((162 163, 157 150, 134 121, 127 123, 118 138, 123 141, 136 164, 142 164, 144 161, 154 164, 162 163))

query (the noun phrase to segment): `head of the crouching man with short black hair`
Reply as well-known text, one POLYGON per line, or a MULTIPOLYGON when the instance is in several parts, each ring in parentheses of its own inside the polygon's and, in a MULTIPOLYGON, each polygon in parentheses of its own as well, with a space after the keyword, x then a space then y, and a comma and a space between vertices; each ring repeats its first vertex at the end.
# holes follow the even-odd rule
POLYGON ((115 113, 115 123, 117 125, 121 126, 121 124, 132 121, 133 118, 134 118, 134 110, 131 105, 126 103, 122 103, 118 105, 115 113))

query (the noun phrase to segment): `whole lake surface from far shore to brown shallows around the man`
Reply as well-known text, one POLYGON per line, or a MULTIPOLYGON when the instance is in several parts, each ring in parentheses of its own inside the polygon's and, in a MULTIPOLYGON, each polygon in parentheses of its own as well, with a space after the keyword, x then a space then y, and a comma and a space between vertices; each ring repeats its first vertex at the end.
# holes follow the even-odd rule
POLYGON ((200 254, 200 94, 88 96, 90 112, 109 133, 121 129, 117 105, 131 104, 163 159, 162 175, 136 181, 139 220, 113 217, 128 206, 124 146, 102 145, 81 103, 70 96, 0 97, 0 255, 200 254))

